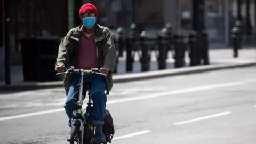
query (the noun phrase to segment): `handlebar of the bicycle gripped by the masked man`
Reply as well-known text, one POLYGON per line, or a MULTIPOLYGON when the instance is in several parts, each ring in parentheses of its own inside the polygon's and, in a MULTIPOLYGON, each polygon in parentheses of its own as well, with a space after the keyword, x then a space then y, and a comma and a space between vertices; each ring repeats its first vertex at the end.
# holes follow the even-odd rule
MULTIPOLYGON (((55 69, 56 70, 56 69, 55 69)), ((77 74, 81 74, 81 73, 86 73, 86 74, 98 74, 98 75, 102 75, 102 76, 107 76, 106 74, 100 73, 100 71, 98 70, 98 68, 92 68, 92 69, 74 69, 74 68, 66 68, 65 72, 61 72, 61 73, 57 73, 56 75, 60 75, 60 74, 70 74, 70 73, 77 73, 77 74)))

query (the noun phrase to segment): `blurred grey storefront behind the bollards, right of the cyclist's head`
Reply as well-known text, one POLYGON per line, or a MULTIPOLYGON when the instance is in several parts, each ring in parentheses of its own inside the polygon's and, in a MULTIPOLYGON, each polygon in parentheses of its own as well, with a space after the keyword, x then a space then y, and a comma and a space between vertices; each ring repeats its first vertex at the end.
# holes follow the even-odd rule
MULTIPOLYGON (((242 22, 246 26, 246 1, 241 2, 242 22)), ((82 0, 87 3, 89 0, 82 0)), ((116 29, 131 23, 145 29, 161 29, 171 22, 174 31, 188 33, 192 29, 193 0, 93 0, 102 25, 116 29)), ((212 43, 228 45, 230 28, 237 19, 236 0, 205 0, 205 27, 212 43)), ((250 1, 250 25, 255 27, 254 1, 250 1)))

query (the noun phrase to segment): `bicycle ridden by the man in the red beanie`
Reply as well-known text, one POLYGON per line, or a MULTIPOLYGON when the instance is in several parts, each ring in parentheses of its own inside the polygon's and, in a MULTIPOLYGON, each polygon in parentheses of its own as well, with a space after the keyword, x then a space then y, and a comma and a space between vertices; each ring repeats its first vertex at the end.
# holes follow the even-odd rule
MULTIPOLYGON (((76 116, 73 117, 71 120, 71 136, 70 136, 70 144, 73 144, 74 142, 78 144, 91 144, 94 143, 94 125, 92 124, 93 121, 93 107, 91 103, 91 84, 87 84, 87 91, 89 95, 89 101, 87 103, 87 107, 84 113, 84 110, 82 111, 81 107, 83 105, 83 100, 84 100, 84 95, 83 93, 83 78, 84 74, 99 74, 103 76, 107 76, 106 74, 100 73, 98 68, 92 68, 92 69, 74 69, 74 67, 70 67, 66 69, 66 72, 62 73, 57 73, 56 75, 59 74, 71 74, 71 73, 76 73, 80 74, 81 78, 78 83, 79 86, 79 91, 78 91, 78 101, 76 102, 77 105, 77 114, 76 116), (81 106, 79 108, 79 106, 81 106), (81 114, 81 115, 79 115, 81 114)), ((103 143, 107 144, 107 142, 103 143)))

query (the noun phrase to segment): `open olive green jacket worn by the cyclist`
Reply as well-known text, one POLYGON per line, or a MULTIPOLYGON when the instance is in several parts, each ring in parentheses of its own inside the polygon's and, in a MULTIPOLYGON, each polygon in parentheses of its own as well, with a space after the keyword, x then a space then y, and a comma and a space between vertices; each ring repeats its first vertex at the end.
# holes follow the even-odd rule
MULTIPOLYGON (((78 66, 78 52, 80 47, 80 39, 83 30, 83 25, 79 25, 76 28, 71 29, 68 34, 61 40, 59 46, 59 53, 57 57, 56 65, 63 65, 66 68, 74 66, 77 69, 78 66)), ((97 58, 99 67, 105 67, 110 69, 110 73, 105 78, 107 94, 112 89, 112 71, 116 69, 116 49, 114 44, 113 34, 107 27, 100 25, 94 26, 95 43, 97 45, 97 58)), ((74 74, 65 74, 64 88, 66 94, 68 94, 70 83, 74 74)))

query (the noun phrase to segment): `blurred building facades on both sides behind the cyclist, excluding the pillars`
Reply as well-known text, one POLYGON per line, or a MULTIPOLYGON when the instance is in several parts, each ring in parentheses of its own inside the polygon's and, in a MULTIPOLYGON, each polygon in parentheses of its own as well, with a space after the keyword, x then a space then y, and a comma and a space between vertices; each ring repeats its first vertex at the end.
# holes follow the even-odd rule
MULTIPOLYGON (((161 29, 167 22, 174 31, 191 30, 193 0, 9 0, 11 23, 11 47, 19 49, 20 38, 59 36, 63 37, 74 27, 79 6, 92 2, 99 11, 99 22, 111 29, 119 26, 129 28, 132 23, 145 29, 161 29), (74 7, 74 3, 78 3, 74 7)), ((246 23, 246 0, 242 0, 242 22, 246 23)), ((250 1, 250 25, 255 27, 254 1, 250 1)), ((210 37, 225 37, 237 19, 237 1, 205 0, 206 28, 210 37)), ((1 7, 0 18, 3 20, 1 7)), ((3 27, 0 22, 0 27, 3 27)), ((223 39, 221 37, 221 39, 223 39)), ((222 42, 224 43, 224 42, 222 42)), ((0 31, 0 46, 3 45, 3 29, 0 31)))

